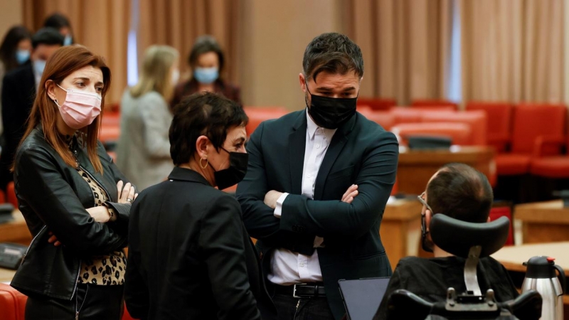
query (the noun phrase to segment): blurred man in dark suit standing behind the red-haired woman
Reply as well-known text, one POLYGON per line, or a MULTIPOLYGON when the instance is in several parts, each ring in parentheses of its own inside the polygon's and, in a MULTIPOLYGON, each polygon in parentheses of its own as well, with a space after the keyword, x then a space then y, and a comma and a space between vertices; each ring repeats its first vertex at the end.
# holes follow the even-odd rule
POLYGON ((10 166, 14 154, 26 132, 26 122, 36 98, 46 60, 63 46, 63 36, 54 28, 40 29, 32 37, 31 63, 26 63, 7 73, 2 85, 2 124, 6 145, 0 156, 0 187, 14 180, 10 166))

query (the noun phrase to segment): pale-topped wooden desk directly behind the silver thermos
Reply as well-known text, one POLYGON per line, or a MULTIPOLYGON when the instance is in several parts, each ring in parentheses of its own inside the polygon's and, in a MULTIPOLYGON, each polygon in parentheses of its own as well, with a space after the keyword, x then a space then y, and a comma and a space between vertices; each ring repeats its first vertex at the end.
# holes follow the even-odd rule
MULTIPOLYGON (((510 272, 514 283, 521 287, 521 281, 526 274, 526 262, 536 255, 545 255, 555 258, 555 265, 560 265, 565 271, 565 276, 569 277, 569 242, 550 242, 533 245, 516 245, 503 247, 492 257, 501 262, 510 272)), ((569 320, 569 295, 563 295, 563 318, 569 320)))

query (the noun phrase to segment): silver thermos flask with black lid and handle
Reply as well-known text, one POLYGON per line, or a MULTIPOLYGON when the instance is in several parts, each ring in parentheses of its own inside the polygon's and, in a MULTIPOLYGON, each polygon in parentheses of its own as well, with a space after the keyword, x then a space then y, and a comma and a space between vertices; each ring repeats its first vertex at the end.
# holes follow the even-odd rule
POLYGON ((565 272, 555 265, 552 257, 532 257, 523 265, 528 267, 526 278, 521 284, 521 292, 534 289, 541 294, 543 306, 541 319, 563 320, 563 292, 565 292, 565 272), (555 270, 559 272, 558 279, 555 270))

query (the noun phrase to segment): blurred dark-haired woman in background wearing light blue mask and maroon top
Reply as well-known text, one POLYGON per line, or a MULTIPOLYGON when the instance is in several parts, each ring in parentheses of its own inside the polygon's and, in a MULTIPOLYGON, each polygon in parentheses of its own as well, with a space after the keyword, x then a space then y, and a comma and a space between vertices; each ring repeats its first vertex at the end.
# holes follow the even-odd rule
POLYGON ((191 78, 176 86, 171 107, 176 106, 188 95, 204 91, 216 92, 241 104, 239 87, 221 78, 225 67, 225 56, 215 38, 212 36, 197 38, 188 56, 188 63, 191 68, 191 78))

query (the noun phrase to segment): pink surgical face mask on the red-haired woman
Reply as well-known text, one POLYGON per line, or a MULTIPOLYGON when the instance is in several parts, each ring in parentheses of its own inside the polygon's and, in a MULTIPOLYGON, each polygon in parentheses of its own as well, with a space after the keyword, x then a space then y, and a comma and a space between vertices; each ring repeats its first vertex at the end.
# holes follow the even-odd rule
POLYGON ((83 90, 65 90, 57 85, 61 90, 67 92, 65 102, 59 105, 57 100, 53 100, 59 107, 59 113, 63 122, 75 130, 87 127, 101 113, 101 96, 95 92, 83 90))

